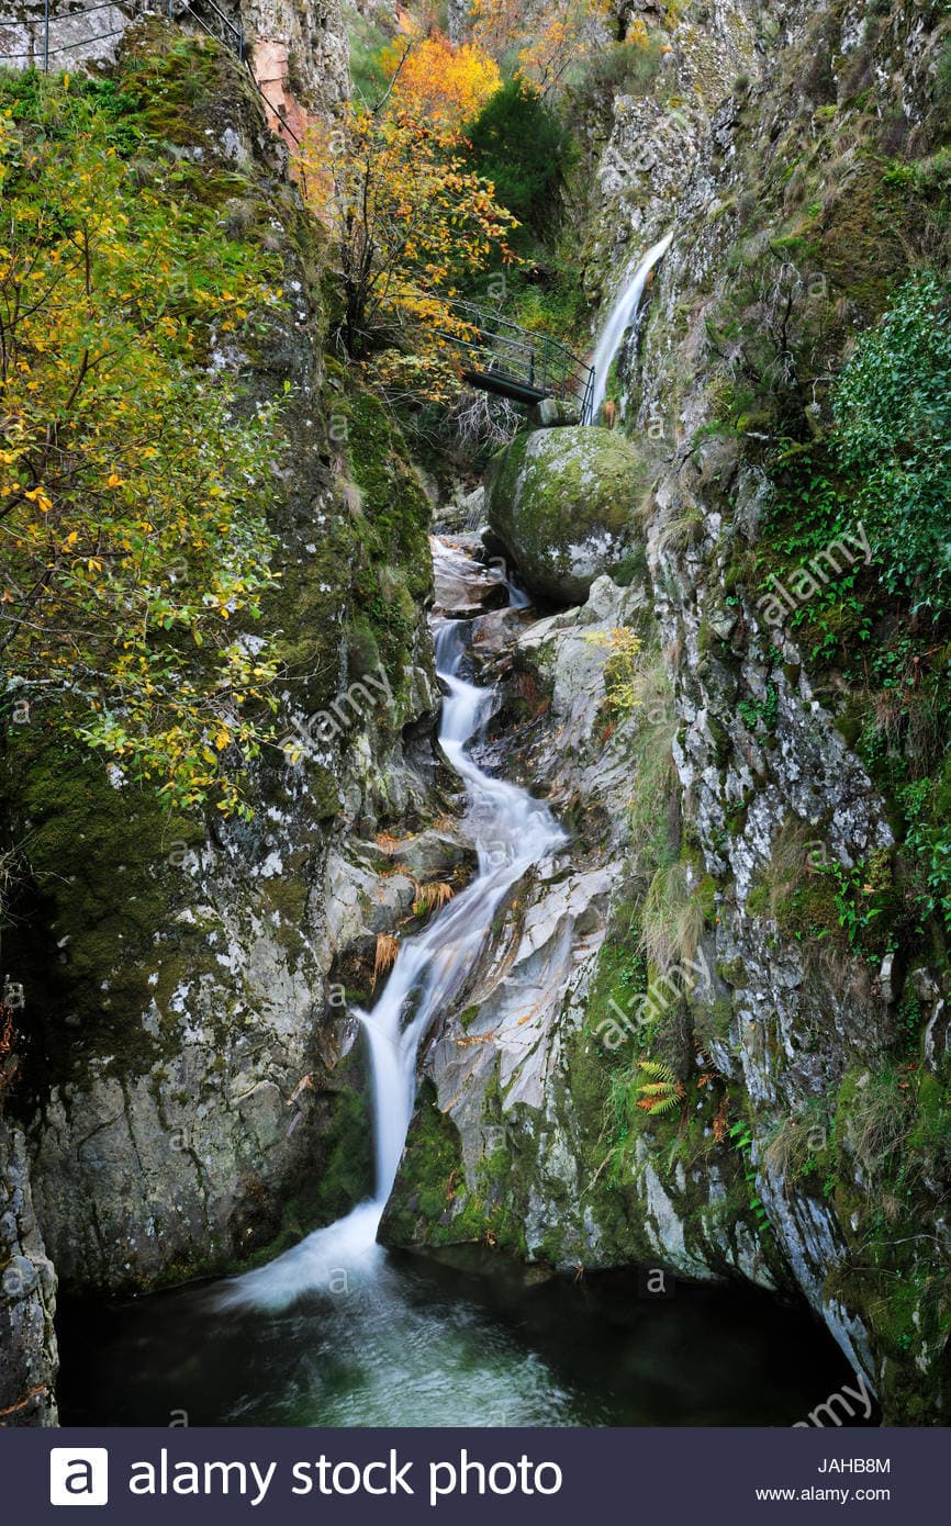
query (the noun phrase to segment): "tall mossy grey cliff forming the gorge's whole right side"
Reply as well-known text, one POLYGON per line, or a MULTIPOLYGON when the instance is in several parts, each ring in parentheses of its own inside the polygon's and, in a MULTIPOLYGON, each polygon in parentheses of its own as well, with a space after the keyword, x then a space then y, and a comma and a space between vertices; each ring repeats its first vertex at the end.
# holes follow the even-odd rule
MULTIPOLYGON (((650 162, 606 156, 595 253, 675 227, 627 357, 632 429, 659 465, 644 610, 595 581, 582 610, 473 626, 504 685, 499 749, 577 836, 521 888, 426 1054, 388 1224, 798 1289, 887 1421, 946 1424, 946 954, 902 925, 901 812, 856 749, 867 691, 818 636, 766 620, 759 560, 783 447, 830 429, 855 334, 928 259, 924 203, 882 165, 904 156, 934 183, 943 32, 917 8, 838 3, 751 21, 769 47, 739 52, 762 78, 722 99, 716 66, 685 160, 662 134, 650 162), (598 621, 662 655, 667 697, 638 679, 640 707, 618 708, 621 655, 582 644, 598 621), (850 884, 859 916, 873 897, 864 932, 840 920, 850 884), (869 1148, 882 1120, 891 1143, 869 1148)), ((627 116, 643 137, 618 102, 614 146, 627 116)), ((517 557, 498 481, 492 525, 517 557)))

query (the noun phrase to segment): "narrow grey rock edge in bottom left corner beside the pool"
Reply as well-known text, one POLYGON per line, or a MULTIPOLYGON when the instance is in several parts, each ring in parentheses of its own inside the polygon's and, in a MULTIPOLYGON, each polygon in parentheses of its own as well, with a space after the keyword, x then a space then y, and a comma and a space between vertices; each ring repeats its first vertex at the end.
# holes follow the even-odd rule
POLYGON ((0 1425, 55 1425, 56 1276, 43 1245, 23 1134, 0 1119, 0 1425))

